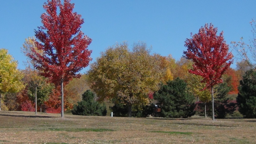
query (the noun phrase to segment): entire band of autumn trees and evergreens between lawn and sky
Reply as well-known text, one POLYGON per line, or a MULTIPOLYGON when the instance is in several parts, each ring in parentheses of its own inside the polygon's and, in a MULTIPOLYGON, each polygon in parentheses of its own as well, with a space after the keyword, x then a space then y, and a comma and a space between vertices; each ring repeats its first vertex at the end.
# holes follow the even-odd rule
POLYGON ((214 120, 237 108, 246 117, 254 116, 253 61, 238 50, 244 43, 233 42, 246 59, 238 62, 236 69, 230 68, 233 55, 229 45, 223 32, 218 35, 212 24, 205 24, 186 39, 187 51, 180 60, 152 54, 152 48, 144 42, 134 43, 131 50, 126 42, 116 43, 81 75, 78 72, 92 60, 92 51, 88 50, 92 39, 80 30, 84 20, 73 12, 70 0, 63 4, 48 0, 43 7, 43 26, 35 30, 35 38, 25 40, 22 48, 28 57, 26 69, 18 70, 17 61, 5 49, 0 51, 3 110, 37 114, 46 104, 50 106, 48 112, 61 113, 61 117, 68 109, 77 115, 103 116, 103 103, 111 100, 115 116, 149 116, 155 105, 161 108, 159 115, 163 117, 186 118, 198 112, 214 120), (228 97, 237 93, 236 100, 228 97))

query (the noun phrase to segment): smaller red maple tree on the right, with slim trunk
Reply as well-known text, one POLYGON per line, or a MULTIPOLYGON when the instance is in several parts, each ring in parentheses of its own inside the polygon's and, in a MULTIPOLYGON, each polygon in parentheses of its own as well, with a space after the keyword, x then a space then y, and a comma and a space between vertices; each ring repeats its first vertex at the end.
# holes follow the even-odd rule
POLYGON ((205 89, 211 89, 212 93, 212 120, 214 120, 213 86, 222 83, 221 76, 233 62, 232 53, 228 52, 228 44, 224 41, 223 31, 217 36, 217 28, 212 24, 199 29, 195 35, 191 33, 190 39, 186 39, 188 48, 184 57, 193 60, 193 69, 189 72, 203 77, 206 83, 205 89))

